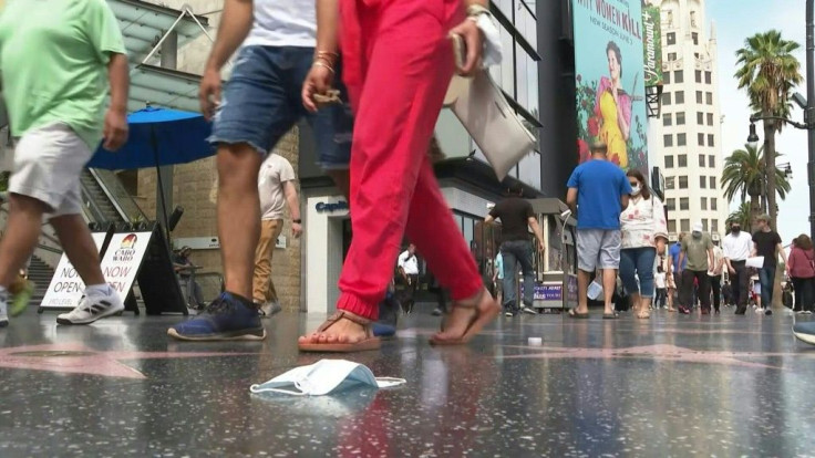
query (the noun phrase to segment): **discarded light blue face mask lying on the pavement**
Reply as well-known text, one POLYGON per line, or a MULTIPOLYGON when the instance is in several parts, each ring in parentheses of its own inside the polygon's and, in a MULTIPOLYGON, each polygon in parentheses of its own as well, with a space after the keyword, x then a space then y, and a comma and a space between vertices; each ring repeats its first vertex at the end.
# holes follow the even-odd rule
POLYGON ((365 365, 345 360, 320 360, 296 367, 269 382, 252 385, 252 393, 281 393, 296 396, 323 396, 355 387, 389 388, 404 378, 374 377, 365 365))

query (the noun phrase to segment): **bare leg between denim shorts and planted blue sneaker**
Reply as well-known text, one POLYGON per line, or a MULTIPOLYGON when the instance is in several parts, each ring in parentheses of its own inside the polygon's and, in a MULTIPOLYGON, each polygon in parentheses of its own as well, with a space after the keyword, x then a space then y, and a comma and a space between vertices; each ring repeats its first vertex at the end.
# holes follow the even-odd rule
POLYGON ((226 290, 251 298, 260 237, 258 173, 262 157, 247 144, 218 147, 218 237, 226 290))

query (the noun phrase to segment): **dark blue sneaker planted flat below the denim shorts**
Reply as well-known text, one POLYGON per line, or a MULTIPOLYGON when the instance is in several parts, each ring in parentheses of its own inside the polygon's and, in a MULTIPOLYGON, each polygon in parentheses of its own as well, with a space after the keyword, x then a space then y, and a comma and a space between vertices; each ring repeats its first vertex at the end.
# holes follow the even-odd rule
POLYGON ((225 292, 198 316, 167 330, 167 335, 180 341, 262 341, 266 330, 251 301, 225 292))

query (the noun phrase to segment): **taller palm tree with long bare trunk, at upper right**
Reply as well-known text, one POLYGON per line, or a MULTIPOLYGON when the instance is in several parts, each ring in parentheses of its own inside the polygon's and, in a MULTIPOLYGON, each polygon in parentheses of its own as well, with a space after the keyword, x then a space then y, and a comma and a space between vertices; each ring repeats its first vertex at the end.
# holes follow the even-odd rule
MULTIPOLYGON (((782 39, 780 31, 771 30, 746 39, 744 48, 736 51, 736 63, 741 65, 735 72, 739 89, 746 89, 751 108, 761 116, 786 118, 790 115, 792 90, 803 81, 801 62, 792 54, 798 48, 798 43, 782 39)), ((782 126, 783 122, 764 121, 767 170, 775 169, 775 133, 781 132, 782 126)), ((766 185, 770 217, 772 226, 776 227, 775 174, 767 176, 766 185)))

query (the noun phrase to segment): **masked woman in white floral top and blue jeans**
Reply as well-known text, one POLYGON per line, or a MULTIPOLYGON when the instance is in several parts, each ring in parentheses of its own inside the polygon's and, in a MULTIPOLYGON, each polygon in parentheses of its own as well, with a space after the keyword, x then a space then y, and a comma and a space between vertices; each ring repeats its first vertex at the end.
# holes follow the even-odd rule
POLYGON ((631 296, 637 318, 647 319, 651 315, 654 294, 654 260, 666 251, 668 226, 664 207, 648 189, 642 173, 631 169, 626 176, 631 185, 631 198, 620 214, 620 279, 631 296))

